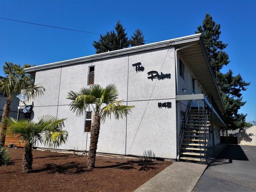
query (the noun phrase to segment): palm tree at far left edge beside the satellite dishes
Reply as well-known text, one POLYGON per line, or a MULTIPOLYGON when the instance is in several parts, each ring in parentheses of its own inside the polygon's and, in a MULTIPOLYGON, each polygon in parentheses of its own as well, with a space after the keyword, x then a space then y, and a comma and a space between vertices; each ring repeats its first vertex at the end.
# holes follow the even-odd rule
MULTIPOLYGON (((12 62, 4 62, 3 71, 6 78, 0 78, 0 92, 4 92, 7 97, 2 114, 3 120, 9 116, 13 94, 23 92, 31 99, 44 94, 44 87, 34 84, 34 76, 25 74, 24 69, 28 67, 30 65, 24 64, 23 67, 20 67, 20 65, 13 64, 12 62)), ((0 146, 4 146, 5 130, 6 125, 3 123, 2 129, 0 129, 0 146)))

